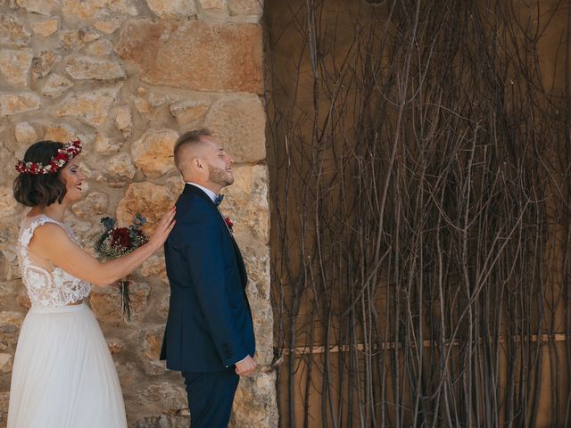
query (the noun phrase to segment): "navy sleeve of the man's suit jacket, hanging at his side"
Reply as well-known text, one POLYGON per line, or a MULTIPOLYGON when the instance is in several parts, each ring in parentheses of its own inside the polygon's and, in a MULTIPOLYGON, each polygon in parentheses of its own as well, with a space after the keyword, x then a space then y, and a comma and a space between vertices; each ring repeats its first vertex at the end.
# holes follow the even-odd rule
POLYGON ((186 236, 185 257, 190 267, 194 289, 203 311, 211 338, 225 366, 231 366, 247 356, 241 343, 228 300, 227 260, 222 251, 222 234, 227 233, 217 221, 208 216, 189 225, 181 225, 186 236))

